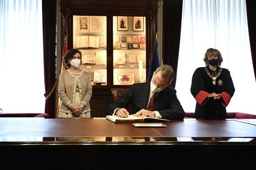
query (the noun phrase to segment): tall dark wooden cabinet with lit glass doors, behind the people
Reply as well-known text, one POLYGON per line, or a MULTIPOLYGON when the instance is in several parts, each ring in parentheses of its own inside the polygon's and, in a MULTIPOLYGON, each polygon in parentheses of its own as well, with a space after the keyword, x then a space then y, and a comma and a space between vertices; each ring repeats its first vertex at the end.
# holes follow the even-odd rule
POLYGON ((155 48, 157 0, 61 0, 63 37, 82 52, 91 76, 91 116, 105 117, 111 88, 147 81, 155 48))

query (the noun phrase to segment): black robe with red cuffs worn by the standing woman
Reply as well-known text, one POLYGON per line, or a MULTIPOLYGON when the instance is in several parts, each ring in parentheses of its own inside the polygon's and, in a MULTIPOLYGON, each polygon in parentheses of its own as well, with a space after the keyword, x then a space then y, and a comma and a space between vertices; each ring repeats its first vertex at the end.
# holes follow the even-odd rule
MULTIPOLYGON (((210 74, 212 70, 207 66, 210 74)), ((217 67, 218 73, 220 67, 217 67)), ((221 74, 216 79, 216 84, 212 83, 212 78, 206 73, 204 67, 197 68, 193 74, 190 91, 196 98, 195 118, 199 119, 226 119, 226 107, 229 105, 235 88, 229 70, 222 68, 221 74), (221 93, 220 100, 208 98, 210 93, 221 93)))

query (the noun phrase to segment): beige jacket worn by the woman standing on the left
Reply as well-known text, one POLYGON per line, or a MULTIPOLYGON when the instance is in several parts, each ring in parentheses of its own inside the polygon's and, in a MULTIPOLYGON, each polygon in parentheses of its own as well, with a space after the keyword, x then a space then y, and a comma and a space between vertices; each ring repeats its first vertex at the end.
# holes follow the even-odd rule
POLYGON ((83 113, 91 111, 90 99, 92 96, 92 86, 90 81, 90 75, 87 72, 82 72, 81 74, 72 74, 68 70, 60 73, 59 75, 59 98, 60 98, 60 108, 59 111, 72 113, 67 105, 75 101, 75 95, 80 81, 81 87, 78 89, 81 92, 82 103, 85 104, 83 107, 83 113))

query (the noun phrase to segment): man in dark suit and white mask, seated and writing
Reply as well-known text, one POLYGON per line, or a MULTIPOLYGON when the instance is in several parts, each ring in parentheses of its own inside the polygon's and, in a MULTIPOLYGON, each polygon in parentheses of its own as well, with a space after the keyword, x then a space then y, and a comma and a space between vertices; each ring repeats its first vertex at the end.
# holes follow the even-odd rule
POLYGON ((184 118, 185 112, 176 96, 176 90, 171 88, 174 71, 170 65, 162 65, 152 75, 151 82, 133 84, 131 88, 108 107, 108 115, 127 117, 150 116, 169 120, 184 118), (125 108, 131 104, 129 113, 125 108))

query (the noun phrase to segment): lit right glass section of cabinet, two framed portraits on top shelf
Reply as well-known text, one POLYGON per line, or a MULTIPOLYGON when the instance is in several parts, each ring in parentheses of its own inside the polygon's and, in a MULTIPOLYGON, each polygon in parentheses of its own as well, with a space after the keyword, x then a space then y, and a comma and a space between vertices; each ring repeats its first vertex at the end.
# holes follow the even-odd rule
POLYGON ((146 82, 145 18, 113 16, 113 85, 146 82))

